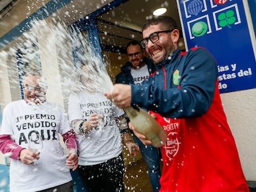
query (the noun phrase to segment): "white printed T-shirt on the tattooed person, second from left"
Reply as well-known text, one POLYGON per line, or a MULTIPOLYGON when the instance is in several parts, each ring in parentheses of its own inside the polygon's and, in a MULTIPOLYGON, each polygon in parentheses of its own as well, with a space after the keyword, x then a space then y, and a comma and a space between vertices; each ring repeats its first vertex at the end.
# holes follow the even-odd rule
POLYGON ((124 114, 104 93, 89 94, 85 91, 69 96, 69 120, 88 120, 93 113, 105 114, 103 128, 95 127, 79 139, 79 165, 95 165, 108 161, 122 152, 121 135, 114 117, 124 114))

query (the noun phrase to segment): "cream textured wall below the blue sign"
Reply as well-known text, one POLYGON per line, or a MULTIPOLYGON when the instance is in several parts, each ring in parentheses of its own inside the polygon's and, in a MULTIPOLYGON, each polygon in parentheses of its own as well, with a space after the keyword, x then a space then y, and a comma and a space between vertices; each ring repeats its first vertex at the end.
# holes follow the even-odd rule
POLYGON ((245 177, 256 181, 256 89, 223 93, 221 99, 245 177))

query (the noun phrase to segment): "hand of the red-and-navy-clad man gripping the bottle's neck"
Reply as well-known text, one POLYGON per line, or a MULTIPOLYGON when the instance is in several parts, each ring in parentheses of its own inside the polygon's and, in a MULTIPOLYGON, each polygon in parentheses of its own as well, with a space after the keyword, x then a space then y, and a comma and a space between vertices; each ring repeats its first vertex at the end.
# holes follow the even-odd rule
POLYGON ((108 90, 104 95, 120 109, 130 107, 130 102, 132 101, 130 85, 116 83, 113 89, 108 90))

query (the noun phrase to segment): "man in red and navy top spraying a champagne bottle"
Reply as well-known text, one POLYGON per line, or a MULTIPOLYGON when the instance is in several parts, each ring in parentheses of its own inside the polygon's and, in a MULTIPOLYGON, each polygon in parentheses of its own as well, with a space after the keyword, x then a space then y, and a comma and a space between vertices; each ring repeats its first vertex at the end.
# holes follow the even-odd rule
POLYGON ((177 24, 169 16, 148 20, 142 35, 157 72, 142 85, 115 84, 105 96, 119 108, 136 105, 154 112, 168 133, 161 148, 160 191, 249 191, 221 104, 213 56, 200 47, 182 52, 177 24))

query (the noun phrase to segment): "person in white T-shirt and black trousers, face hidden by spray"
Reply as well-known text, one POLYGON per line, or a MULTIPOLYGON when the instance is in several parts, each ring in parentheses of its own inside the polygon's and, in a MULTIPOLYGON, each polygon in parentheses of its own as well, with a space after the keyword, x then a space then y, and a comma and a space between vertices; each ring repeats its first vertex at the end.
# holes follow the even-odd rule
POLYGON ((139 146, 131 142, 124 111, 93 88, 97 72, 88 64, 80 71, 84 88, 70 94, 68 106, 69 120, 79 139, 79 175, 88 191, 124 192, 122 142, 134 156, 139 146))

